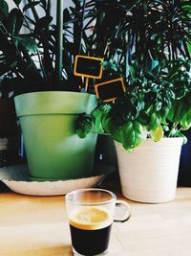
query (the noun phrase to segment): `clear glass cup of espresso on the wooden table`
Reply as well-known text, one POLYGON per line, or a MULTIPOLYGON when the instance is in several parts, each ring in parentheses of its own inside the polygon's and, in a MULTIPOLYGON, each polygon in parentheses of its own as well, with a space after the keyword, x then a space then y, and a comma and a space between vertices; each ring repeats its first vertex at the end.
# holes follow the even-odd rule
POLYGON ((103 189, 80 189, 66 195, 74 255, 105 255, 113 221, 127 221, 129 205, 103 189))

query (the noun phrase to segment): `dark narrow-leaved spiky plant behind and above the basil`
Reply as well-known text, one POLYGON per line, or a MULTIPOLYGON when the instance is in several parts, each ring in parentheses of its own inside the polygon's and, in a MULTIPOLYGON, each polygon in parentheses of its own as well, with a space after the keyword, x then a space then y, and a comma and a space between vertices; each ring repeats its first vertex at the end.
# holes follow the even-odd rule
MULTIPOLYGON (((111 1, 98 2, 105 10, 111 1)), ((117 31, 111 34, 105 50, 107 75, 111 77, 115 74, 119 75, 128 83, 131 65, 135 65, 135 62, 145 73, 149 63, 155 63, 155 59, 163 65, 166 60, 180 56, 190 58, 191 7, 189 1, 112 2, 114 2, 112 7, 118 12, 120 10, 120 13, 117 15, 117 12, 110 11, 106 17, 113 19, 117 16, 120 22, 117 31), (117 2, 119 2, 118 7, 117 2), (124 12, 125 10, 128 12, 124 12), (112 74, 110 74, 111 69, 114 71, 112 74)), ((102 23, 102 27, 107 28, 107 25, 102 23)), ((105 35, 107 34, 103 32, 101 38, 105 35)))

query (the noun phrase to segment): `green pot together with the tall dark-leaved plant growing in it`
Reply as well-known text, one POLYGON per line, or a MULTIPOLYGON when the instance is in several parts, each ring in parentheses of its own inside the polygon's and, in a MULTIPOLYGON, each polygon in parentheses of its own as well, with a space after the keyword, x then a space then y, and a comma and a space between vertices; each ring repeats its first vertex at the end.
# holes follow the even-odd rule
MULTIPOLYGON (((7 1, 1 3, 0 48, 6 58, 2 65, 10 68, 17 80, 14 101, 30 175, 37 180, 91 175, 96 134, 79 138, 75 120, 96 106, 96 96, 80 93, 80 80, 72 73, 81 38, 72 51, 68 38, 73 32, 67 23, 76 14, 64 10, 63 1, 57 1, 54 25, 52 1, 27 1, 24 6, 22 1, 14 3, 11 11, 7 1)), ((74 11, 83 13, 79 3, 74 11)), ((75 22, 74 29, 82 22, 75 22)))

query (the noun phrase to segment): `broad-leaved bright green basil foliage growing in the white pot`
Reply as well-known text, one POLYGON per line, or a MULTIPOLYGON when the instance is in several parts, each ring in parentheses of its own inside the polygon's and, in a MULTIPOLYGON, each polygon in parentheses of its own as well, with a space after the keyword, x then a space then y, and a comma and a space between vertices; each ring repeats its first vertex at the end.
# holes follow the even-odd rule
POLYGON ((178 58, 163 68, 155 61, 151 67, 139 74, 132 66, 136 78, 124 95, 92 113, 97 132, 111 134, 127 151, 147 137, 184 137, 180 131, 191 127, 191 60, 178 58))

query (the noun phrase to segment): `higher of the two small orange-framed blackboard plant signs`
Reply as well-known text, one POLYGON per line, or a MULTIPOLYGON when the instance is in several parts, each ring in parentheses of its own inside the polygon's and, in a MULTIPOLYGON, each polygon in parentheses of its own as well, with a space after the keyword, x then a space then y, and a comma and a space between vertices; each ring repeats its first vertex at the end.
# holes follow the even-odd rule
POLYGON ((74 76, 101 79, 103 72, 103 58, 89 56, 75 56, 74 76))

